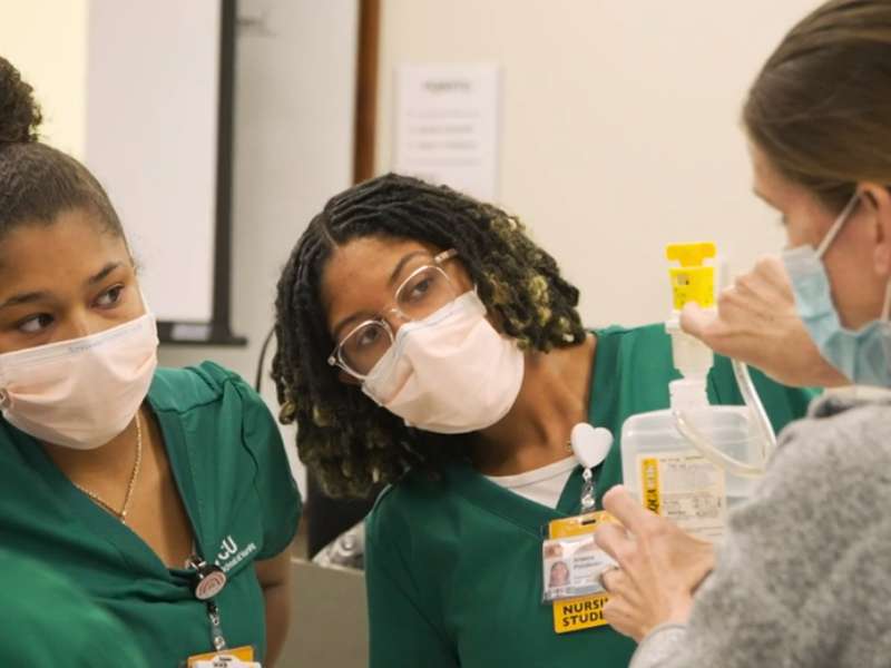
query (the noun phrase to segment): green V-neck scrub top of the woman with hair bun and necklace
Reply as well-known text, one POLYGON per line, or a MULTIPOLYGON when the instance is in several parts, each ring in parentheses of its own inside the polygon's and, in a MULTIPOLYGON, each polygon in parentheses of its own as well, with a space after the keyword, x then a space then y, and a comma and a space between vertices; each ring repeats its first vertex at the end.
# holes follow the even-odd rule
MULTIPOLYGON (((237 375, 205 362, 160 369, 148 393, 196 549, 228 578, 216 597, 229 647, 265 655, 254 562, 285 550, 301 500, 277 424, 237 375)), ((75 488, 35 439, 0 420, 3 547, 77 582, 131 635, 151 666, 210 651, 190 572, 168 569, 128 527, 75 488)), ((110 641, 115 641, 114 639, 110 641)))

